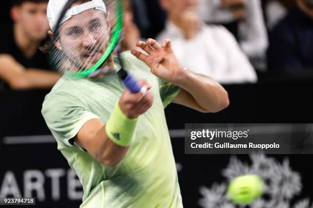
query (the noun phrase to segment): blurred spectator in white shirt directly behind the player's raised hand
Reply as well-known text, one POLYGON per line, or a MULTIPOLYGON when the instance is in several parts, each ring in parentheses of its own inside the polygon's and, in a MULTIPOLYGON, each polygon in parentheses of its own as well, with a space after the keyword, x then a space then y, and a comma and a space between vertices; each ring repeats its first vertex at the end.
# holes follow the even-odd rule
POLYGON ((165 30, 158 36, 172 40, 182 64, 223 84, 256 82, 257 76, 233 35, 222 26, 205 25, 197 0, 160 0, 168 13, 165 30))

